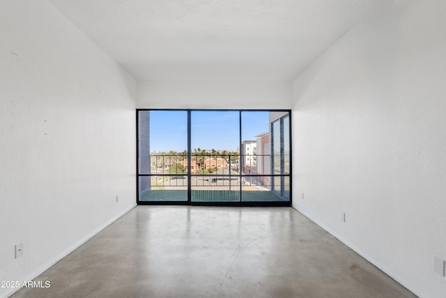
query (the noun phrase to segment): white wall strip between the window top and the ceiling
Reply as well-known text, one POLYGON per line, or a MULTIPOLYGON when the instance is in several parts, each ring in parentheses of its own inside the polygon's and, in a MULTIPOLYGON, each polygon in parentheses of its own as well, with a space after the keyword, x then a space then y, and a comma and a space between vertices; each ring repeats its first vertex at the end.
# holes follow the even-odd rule
POLYGON ((137 107, 291 109, 291 82, 138 82, 137 107))

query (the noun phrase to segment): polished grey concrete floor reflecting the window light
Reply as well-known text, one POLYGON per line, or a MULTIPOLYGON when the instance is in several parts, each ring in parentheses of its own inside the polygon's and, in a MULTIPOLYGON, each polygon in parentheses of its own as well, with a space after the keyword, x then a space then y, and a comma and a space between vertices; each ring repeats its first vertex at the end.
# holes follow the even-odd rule
POLYGON ((291 208, 139 206, 13 297, 415 297, 291 208))

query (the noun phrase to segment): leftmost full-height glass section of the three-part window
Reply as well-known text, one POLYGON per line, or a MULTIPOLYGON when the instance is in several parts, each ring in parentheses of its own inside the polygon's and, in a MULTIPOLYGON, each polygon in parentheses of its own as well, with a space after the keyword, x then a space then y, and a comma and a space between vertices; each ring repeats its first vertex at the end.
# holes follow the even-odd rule
POLYGON ((140 201, 187 201, 187 112, 139 111, 140 201))

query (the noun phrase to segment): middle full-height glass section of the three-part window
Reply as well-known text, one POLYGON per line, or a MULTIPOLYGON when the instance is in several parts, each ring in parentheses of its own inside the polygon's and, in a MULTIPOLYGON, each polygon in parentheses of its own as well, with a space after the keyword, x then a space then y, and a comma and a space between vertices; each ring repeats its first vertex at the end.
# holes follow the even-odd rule
POLYGON ((239 112, 191 112, 192 202, 239 202, 239 112))

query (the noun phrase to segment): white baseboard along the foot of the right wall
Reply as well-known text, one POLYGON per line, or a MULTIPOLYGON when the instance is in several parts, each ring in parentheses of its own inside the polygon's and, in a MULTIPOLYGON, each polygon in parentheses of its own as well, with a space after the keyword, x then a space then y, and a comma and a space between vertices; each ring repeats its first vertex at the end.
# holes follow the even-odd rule
POLYGON ((413 292, 413 294, 415 294, 418 297, 420 297, 420 293, 417 293, 415 290, 411 289, 409 283, 407 281, 404 281, 401 278, 397 277, 397 274, 395 274, 394 271, 392 271, 390 268, 388 268, 385 265, 381 264, 376 259, 372 258, 370 255, 367 255, 367 253, 364 253, 364 251, 360 250, 360 248, 357 248, 357 246, 355 246, 353 243, 351 243, 347 239, 344 239, 344 237, 342 237, 340 234, 338 234, 337 232, 334 232, 334 230, 328 228, 326 225, 324 225, 323 223, 318 221, 316 218, 314 218, 313 216, 308 214, 307 211, 305 211, 304 209, 302 209, 300 207, 296 207, 294 205, 292 207, 293 207, 293 209, 298 211, 300 214, 302 214, 303 216, 308 218, 310 221, 312 221, 313 223, 318 225, 320 228, 325 230, 325 232, 328 232, 334 238, 338 239, 343 244, 348 246, 348 248, 351 248, 352 251, 354 251, 355 253, 360 255, 362 258, 364 258, 365 260, 371 262, 371 264, 373 264, 375 267, 377 267, 378 269, 383 271, 385 274, 387 274, 388 276, 393 278, 395 281, 397 281, 397 283, 401 284, 404 288, 410 290, 410 292, 413 292))

